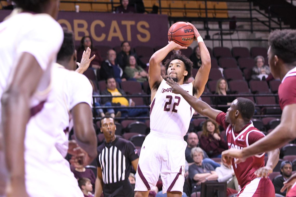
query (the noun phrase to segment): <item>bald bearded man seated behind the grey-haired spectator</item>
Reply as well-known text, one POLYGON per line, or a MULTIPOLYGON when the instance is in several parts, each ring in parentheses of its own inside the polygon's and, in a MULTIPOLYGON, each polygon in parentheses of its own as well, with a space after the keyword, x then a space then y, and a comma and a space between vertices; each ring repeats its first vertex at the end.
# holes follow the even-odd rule
MULTIPOLYGON (((188 138, 187 138, 188 145, 185 149, 185 158, 186 158, 186 161, 188 162, 189 166, 194 163, 194 161, 191 157, 191 150, 192 150, 192 148, 199 147, 198 142, 199 142, 199 139, 198 139, 198 136, 196 133, 191 132, 188 134, 188 138)), ((208 164, 212 165, 214 168, 220 166, 220 164, 218 164, 215 161, 213 161, 212 159, 210 159, 204 150, 202 150, 202 151, 204 152, 202 163, 208 163, 208 164)))

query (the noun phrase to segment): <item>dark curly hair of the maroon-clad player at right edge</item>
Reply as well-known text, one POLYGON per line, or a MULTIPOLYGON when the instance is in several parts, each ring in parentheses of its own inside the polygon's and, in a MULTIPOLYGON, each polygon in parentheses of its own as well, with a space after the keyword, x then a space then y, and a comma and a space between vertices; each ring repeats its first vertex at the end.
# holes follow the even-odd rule
POLYGON ((269 35, 271 52, 285 63, 296 61, 296 30, 275 30, 269 35))

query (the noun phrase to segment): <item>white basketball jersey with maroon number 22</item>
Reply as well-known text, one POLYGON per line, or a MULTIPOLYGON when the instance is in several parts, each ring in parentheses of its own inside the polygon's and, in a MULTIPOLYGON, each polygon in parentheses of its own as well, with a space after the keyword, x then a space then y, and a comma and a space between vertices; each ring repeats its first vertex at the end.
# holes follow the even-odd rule
MULTIPOLYGON (((192 83, 181 87, 192 95, 192 83)), ((163 80, 150 105, 150 129, 183 137, 188 131, 193 114, 194 109, 188 102, 181 95, 172 93, 170 86, 163 80)))

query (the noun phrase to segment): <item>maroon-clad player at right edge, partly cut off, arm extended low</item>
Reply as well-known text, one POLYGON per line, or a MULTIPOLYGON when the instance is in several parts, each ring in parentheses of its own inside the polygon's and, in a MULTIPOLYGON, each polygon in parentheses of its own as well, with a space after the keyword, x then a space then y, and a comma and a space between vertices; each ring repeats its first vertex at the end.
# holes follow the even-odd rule
MULTIPOLYGON (((281 123, 266 138, 242 150, 226 151, 225 157, 239 158, 237 162, 264 151, 270 151, 296 138, 296 30, 275 30, 269 35, 268 64, 274 78, 280 78, 279 103, 281 123)), ((292 175, 281 191, 288 197, 296 196, 296 174, 292 175)))

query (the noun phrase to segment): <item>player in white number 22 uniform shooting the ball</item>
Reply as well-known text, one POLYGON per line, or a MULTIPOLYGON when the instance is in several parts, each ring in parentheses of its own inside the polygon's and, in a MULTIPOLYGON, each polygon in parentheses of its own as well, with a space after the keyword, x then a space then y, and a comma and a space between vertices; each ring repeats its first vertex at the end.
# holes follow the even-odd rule
MULTIPOLYGON (((194 81, 184 84, 192 74, 192 62, 185 56, 174 54, 165 62, 168 78, 180 84, 190 95, 200 97, 205 89, 210 68, 210 54, 199 32, 191 23, 195 40, 198 40, 202 66, 194 81)), ((141 149, 137 168, 135 196, 148 196, 155 189, 159 175, 163 181, 163 193, 168 197, 181 196, 184 185, 185 149, 183 137, 188 131, 194 110, 180 96, 170 91, 170 86, 160 75, 160 62, 172 50, 186 49, 171 41, 156 51, 149 61, 151 89, 150 133, 141 149)))

